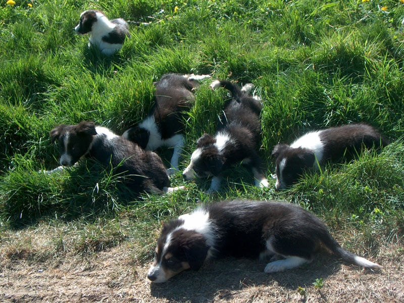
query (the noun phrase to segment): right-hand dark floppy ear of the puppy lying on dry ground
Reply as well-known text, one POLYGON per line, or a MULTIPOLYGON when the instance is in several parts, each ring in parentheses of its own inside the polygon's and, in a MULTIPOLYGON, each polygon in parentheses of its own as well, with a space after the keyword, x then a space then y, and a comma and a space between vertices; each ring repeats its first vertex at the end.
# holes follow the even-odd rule
POLYGON ((209 246, 203 235, 195 233, 184 246, 185 258, 192 270, 198 270, 208 255, 209 246))

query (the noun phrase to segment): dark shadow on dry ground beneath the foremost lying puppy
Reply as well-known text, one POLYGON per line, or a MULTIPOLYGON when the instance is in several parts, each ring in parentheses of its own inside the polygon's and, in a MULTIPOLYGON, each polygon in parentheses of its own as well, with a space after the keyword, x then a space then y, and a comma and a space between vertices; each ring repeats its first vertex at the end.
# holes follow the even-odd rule
MULTIPOLYGON (((273 286, 298 290, 312 286, 316 279, 325 280, 337 272, 341 265, 327 256, 313 263, 280 273, 264 273, 266 263, 257 260, 226 258, 215 260, 195 271, 180 273, 162 284, 150 284, 150 294, 169 301, 205 302, 231 299, 240 289, 273 286)), ((352 269, 354 270, 354 269, 352 269)), ((256 293, 256 290, 253 290, 256 293)), ((251 293, 252 295, 252 293, 251 293)))

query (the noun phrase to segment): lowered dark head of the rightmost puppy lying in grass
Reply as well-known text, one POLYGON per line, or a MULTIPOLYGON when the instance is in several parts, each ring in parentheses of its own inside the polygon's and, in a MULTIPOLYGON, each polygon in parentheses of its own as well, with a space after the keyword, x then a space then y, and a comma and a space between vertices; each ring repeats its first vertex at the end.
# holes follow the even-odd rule
POLYGON ((313 167, 315 156, 305 148, 292 148, 286 144, 276 145, 272 151, 276 158, 275 189, 285 189, 295 183, 306 168, 313 167))

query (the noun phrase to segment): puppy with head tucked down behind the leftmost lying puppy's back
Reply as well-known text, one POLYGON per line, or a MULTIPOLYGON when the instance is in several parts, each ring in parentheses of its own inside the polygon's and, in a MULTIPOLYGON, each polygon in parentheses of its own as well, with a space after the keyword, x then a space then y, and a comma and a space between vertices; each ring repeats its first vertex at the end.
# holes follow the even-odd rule
POLYGON ((184 146, 184 121, 186 111, 194 102, 193 89, 200 80, 210 75, 167 74, 156 82, 156 102, 147 117, 137 126, 123 133, 123 137, 146 150, 161 146, 174 147, 168 174, 178 171, 178 160, 184 146))

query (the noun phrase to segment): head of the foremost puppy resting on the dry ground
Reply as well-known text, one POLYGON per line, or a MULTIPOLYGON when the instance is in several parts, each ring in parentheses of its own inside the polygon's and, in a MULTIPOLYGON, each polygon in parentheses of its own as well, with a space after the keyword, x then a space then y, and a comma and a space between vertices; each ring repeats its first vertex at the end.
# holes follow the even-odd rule
POLYGON ((182 223, 178 219, 163 226, 155 259, 147 273, 150 281, 163 283, 186 269, 198 270, 203 265, 209 250, 206 238, 181 228, 182 223))

